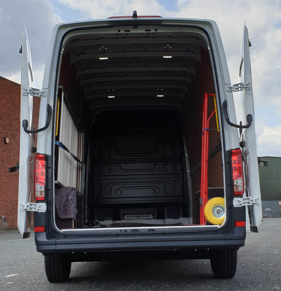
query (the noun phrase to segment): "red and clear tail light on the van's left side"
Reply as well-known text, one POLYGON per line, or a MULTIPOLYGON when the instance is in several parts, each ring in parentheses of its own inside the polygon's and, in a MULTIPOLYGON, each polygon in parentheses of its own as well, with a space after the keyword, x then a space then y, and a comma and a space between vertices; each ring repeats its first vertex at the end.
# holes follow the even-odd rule
POLYGON ((45 200, 45 176, 46 176, 46 161, 45 156, 36 154, 35 156, 35 175, 34 197, 36 200, 45 200))

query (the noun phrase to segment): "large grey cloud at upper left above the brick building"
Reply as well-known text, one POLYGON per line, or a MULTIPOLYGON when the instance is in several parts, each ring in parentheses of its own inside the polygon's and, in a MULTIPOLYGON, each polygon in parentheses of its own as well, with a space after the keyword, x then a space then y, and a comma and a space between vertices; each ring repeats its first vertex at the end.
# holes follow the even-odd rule
POLYGON ((34 82, 41 87, 47 48, 54 24, 61 17, 48 0, 1 1, 0 76, 20 83, 22 33, 26 26, 31 47, 34 82))

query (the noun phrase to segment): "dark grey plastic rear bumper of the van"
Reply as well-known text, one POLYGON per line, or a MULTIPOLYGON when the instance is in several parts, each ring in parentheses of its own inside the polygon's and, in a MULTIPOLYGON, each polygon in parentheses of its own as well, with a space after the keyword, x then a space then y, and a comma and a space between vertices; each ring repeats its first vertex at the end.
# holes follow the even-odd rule
POLYGON ((163 250, 163 249, 238 249, 245 244, 246 230, 244 227, 235 227, 232 235, 163 235, 133 238, 93 238, 68 235, 67 238, 47 239, 46 233, 35 233, 35 243, 38 252, 41 253, 75 253, 97 251, 136 251, 136 250, 163 250))

